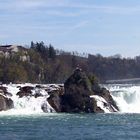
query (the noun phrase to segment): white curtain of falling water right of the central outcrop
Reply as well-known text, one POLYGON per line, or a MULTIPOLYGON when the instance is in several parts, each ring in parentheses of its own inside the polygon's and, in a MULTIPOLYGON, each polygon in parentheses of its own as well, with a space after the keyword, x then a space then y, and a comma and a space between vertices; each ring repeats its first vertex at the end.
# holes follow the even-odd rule
POLYGON ((140 85, 107 86, 122 113, 140 113, 140 85))

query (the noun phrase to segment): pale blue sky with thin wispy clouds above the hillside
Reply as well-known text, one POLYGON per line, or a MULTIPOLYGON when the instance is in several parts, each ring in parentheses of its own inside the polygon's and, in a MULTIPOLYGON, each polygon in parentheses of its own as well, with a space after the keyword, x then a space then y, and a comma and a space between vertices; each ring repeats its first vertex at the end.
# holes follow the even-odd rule
POLYGON ((139 0, 0 0, 0 44, 140 55, 139 0))

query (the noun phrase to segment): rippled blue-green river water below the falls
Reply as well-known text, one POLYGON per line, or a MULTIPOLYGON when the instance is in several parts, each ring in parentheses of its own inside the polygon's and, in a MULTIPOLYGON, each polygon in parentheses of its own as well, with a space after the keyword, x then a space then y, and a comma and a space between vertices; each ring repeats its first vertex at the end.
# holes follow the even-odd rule
POLYGON ((0 116, 0 140, 126 139, 140 139, 140 114, 0 116))

